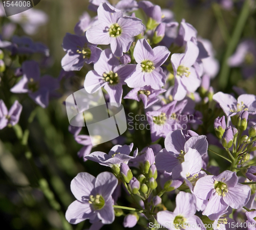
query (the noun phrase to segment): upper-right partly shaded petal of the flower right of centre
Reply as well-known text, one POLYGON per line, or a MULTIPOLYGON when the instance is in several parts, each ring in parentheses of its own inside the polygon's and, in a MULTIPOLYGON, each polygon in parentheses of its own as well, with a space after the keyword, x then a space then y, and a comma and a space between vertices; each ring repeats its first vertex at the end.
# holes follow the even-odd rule
POLYGON ((185 143, 185 146, 184 146, 185 152, 188 151, 189 147, 197 149, 199 154, 203 156, 204 154, 207 153, 207 149, 208 149, 208 142, 206 140, 206 136, 201 135, 201 136, 190 137, 185 143))

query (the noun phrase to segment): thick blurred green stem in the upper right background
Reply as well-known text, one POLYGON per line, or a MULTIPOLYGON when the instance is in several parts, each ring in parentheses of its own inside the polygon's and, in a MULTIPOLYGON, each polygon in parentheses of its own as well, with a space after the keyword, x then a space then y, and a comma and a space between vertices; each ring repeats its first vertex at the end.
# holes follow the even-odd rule
POLYGON ((236 27, 234 28, 231 38, 229 40, 229 43, 227 45, 227 49, 222 61, 222 68, 221 68, 220 77, 219 77, 219 85, 222 90, 227 87, 227 83, 228 83, 228 77, 230 72, 230 68, 227 63, 228 58, 232 55, 232 53, 234 52, 234 49, 237 47, 237 44, 240 40, 245 23, 249 16, 249 13, 250 13, 250 0, 246 0, 244 2, 243 8, 237 20, 236 27))

